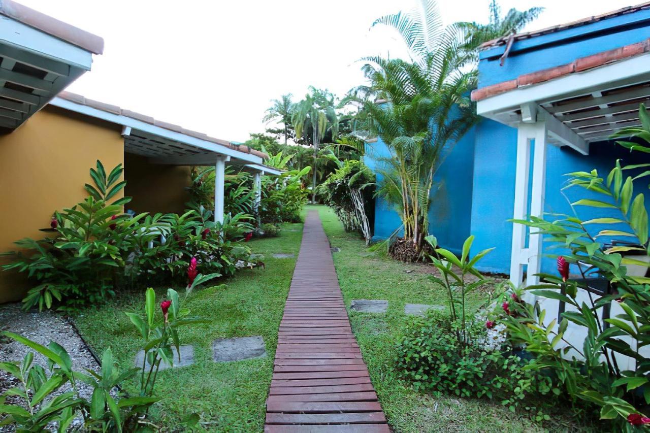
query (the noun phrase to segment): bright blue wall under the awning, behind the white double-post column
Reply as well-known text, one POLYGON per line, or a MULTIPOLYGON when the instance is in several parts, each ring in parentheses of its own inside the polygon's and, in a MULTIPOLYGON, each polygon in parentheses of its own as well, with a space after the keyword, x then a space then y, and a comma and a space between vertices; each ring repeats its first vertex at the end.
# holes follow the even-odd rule
MULTIPOLYGON (((545 189, 545 213, 562 213, 573 215, 569 202, 580 198, 603 200, 601 194, 596 194, 582 188, 573 187, 564 190, 568 179, 565 174, 576 171, 590 172, 594 168, 601 177, 614 167, 616 159, 623 159, 621 164, 650 163, 650 156, 640 152, 630 153, 614 142, 604 141, 592 143, 589 155, 580 155, 566 146, 558 148, 547 145, 547 172, 545 189)), ((474 153, 474 188, 472 202, 471 232, 476 236, 474 252, 484 248, 495 247, 480 262, 478 267, 484 272, 510 272, 510 247, 512 245, 512 218, 515 191, 515 163, 517 155, 517 130, 491 120, 484 120, 476 130, 474 153)), ((634 176, 637 172, 630 171, 627 175, 634 176)), ((646 182, 647 183, 647 182, 646 182)), ((639 181, 635 194, 645 192, 645 183, 639 181)), ((645 203, 650 209, 650 203, 645 203)), ((578 217, 583 220, 598 217, 619 217, 607 209, 591 207, 576 207, 578 217)), ((548 220, 556 217, 547 216, 548 220)), ((592 226, 595 235, 605 226, 592 226)), ((623 227, 608 225, 606 228, 625 230, 623 227)), ((632 238, 629 238, 632 239, 632 238)), ((608 241, 608 239, 604 239, 608 241)), ((562 250, 549 249, 550 243, 544 244, 545 254, 562 254, 562 250)), ((541 263, 542 272, 555 272, 554 259, 545 257, 541 263)))

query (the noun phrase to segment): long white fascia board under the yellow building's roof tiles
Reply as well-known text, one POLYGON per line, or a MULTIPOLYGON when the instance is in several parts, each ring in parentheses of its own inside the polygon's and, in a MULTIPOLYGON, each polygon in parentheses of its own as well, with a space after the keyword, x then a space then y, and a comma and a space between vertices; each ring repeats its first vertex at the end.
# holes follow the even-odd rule
POLYGON ((252 155, 250 153, 240 152, 227 148, 226 146, 222 146, 220 144, 216 144, 207 140, 201 140, 201 138, 191 137, 190 135, 185 135, 183 133, 177 133, 175 131, 171 131, 170 129, 165 129, 156 125, 142 122, 141 120, 122 116, 122 114, 114 114, 112 112, 101 111, 93 107, 88 107, 88 105, 77 104, 72 101, 68 101, 67 99, 59 98, 58 96, 53 98, 49 103, 55 107, 86 114, 86 116, 106 120, 107 122, 114 124, 131 127, 131 129, 137 129, 139 131, 144 131, 152 135, 157 135, 158 137, 167 138, 168 140, 174 140, 180 143, 189 144, 190 146, 196 146, 197 148, 218 153, 220 155, 233 157, 235 159, 239 159, 240 161, 246 161, 247 163, 264 163, 260 157, 252 155))

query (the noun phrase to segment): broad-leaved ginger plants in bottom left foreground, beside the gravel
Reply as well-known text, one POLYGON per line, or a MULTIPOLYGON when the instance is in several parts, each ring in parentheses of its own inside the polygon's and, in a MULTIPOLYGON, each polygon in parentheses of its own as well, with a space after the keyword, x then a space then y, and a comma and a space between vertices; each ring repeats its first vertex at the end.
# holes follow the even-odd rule
POLYGON ((58 431, 66 432, 75 417, 81 417, 83 428, 89 432, 151 431, 151 425, 144 420, 144 416, 149 406, 159 400, 155 397, 155 380, 161 362, 173 365, 172 347, 178 352, 181 344, 179 328, 204 322, 203 319, 190 317, 190 311, 183 306, 185 300, 194 287, 217 276, 202 276, 195 271, 192 267, 188 269, 189 284, 182 301, 176 291, 169 289, 168 299, 160 304, 161 313, 156 314, 155 293, 149 288, 146 291, 144 318, 136 313, 126 313, 142 335, 145 352, 142 368, 120 371, 113 361, 112 351, 107 348, 99 372, 75 371, 68 352, 54 341, 45 347, 21 335, 3 333, 42 354, 47 360, 49 373, 34 364, 33 352, 28 352, 20 363, 0 363, 0 369, 19 381, 18 386, 8 389, 0 397, 0 415, 4 415, 0 426, 15 425, 21 432, 42 432, 49 431, 51 423, 57 423, 58 431), (120 384, 138 376, 139 394, 127 395, 119 387, 120 384), (92 389, 90 400, 80 394, 81 384, 92 389), (70 390, 61 392, 62 387, 70 390), (7 397, 12 397, 14 402, 7 402, 7 397))

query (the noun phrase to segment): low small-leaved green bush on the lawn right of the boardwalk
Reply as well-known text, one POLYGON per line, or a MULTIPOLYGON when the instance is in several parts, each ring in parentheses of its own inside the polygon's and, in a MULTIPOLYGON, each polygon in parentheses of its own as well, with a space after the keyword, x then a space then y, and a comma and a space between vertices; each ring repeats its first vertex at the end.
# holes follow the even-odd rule
POLYGON ((431 316, 407 328, 398 345, 397 366, 416 389, 437 396, 486 397, 513 412, 532 406, 528 397, 560 393, 549 376, 527 369, 528 361, 510 348, 481 348, 478 341, 485 336, 483 324, 466 324, 466 345, 456 338, 457 327, 448 318, 431 316))

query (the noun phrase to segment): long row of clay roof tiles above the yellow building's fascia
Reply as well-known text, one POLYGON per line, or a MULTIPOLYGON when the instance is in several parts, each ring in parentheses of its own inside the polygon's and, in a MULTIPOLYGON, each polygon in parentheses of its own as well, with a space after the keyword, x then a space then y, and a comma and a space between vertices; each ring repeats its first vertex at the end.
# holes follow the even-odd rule
POLYGON ((250 148, 248 146, 244 146, 243 144, 235 144, 233 142, 230 142, 228 140, 222 140, 220 138, 214 138, 214 137, 209 137, 209 135, 192 131, 190 129, 185 129, 179 125, 174 125, 174 124, 168 124, 167 122, 162 122, 161 120, 156 120, 151 116, 146 116, 144 114, 140 114, 135 111, 130 111, 130 110, 125 110, 121 109, 117 105, 110 105, 107 103, 99 102, 99 101, 94 101, 93 99, 87 99, 84 98, 81 95, 77 95, 72 92, 60 92, 57 96, 62 99, 66 99, 67 101, 71 101, 77 104, 81 105, 86 105, 88 107, 92 107, 94 109, 98 109, 101 111, 106 111, 106 112, 111 112, 113 114, 118 114, 120 116, 125 116, 125 117, 130 117, 135 120, 140 120, 140 122, 145 122, 147 124, 155 125, 164 129, 169 129, 170 131, 174 131, 177 133, 189 135, 190 137, 194 138, 200 138, 201 140, 206 140, 215 144, 220 144, 221 146, 225 146, 226 148, 230 148, 232 150, 240 151, 243 153, 250 153, 252 155, 255 155, 257 157, 260 157, 262 159, 268 159, 268 155, 266 153, 261 152, 259 150, 255 150, 253 148, 250 148))

